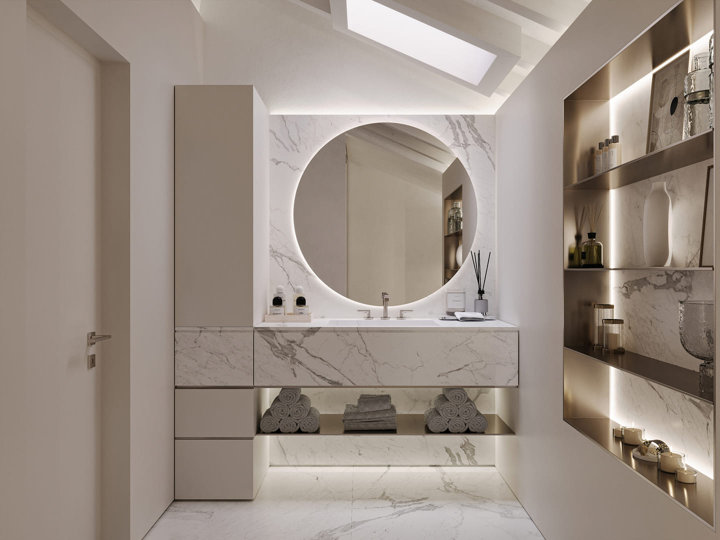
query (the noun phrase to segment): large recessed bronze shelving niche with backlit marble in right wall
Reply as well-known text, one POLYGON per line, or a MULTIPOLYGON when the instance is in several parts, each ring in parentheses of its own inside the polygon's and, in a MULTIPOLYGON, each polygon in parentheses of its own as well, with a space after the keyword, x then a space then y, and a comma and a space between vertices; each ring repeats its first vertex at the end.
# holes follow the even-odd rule
MULTIPOLYGON (((648 489, 665 493, 710 527, 715 510, 714 394, 701 392, 700 360, 680 341, 678 302, 716 297, 717 235, 712 228, 717 199, 710 169, 716 138, 714 130, 684 140, 678 135, 648 152, 652 130, 647 119, 663 118, 666 123, 659 130, 664 136, 683 132, 682 106, 672 119, 669 112, 662 116, 671 107, 658 106, 648 114, 651 73, 672 58, 707 52, 713 21, 713 2, 679 2, 572 91, 564 100, 563 117, 564 420, 579 436, 615 456, 627 474, 638 474, 648 489), (591 149, 612 135, 620 135, 623 161, 595 174, 591 149), (648 267, 644 258, 644 202, 656 181, 667 184, 673 205, 672 260, 664 267, 648 267), (603 205, 596 233, 604 247, 604 266, 570 267, 577 266, 570 251, 588 238, 587 218, 581 217, 589 204, 603 205), (704 240, 701 261, 706 225, 712 232, 704 240), (624 353, 593 348, 595 303, 613 305, 611 317, 624 320, 624 353), (658 472, 656 463, 638 459, 634 446, 613 437, 613 428, 632 423, 644 428, 645 438, 683 452, 688 468, 698 471, 697 484, 658 472)), ((682 96, 684 66, 680 72, 672 77, 682 96)))

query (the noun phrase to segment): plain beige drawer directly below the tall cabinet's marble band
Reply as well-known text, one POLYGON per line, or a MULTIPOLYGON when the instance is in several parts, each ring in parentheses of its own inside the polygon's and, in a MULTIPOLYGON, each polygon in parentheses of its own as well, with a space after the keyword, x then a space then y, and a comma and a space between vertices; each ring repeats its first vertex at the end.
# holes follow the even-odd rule
POLYGON ((253 437, 258 426, 258 390, 251 388, 178 388, 175 436, 253 437))

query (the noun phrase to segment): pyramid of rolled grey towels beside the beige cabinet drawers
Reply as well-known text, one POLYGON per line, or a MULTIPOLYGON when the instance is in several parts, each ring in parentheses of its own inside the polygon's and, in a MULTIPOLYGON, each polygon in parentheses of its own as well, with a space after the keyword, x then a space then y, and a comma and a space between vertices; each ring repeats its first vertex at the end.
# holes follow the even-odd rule
POLYGON ((260 431, 274 433, 315 433, 320 429, 320 412, 310 406, 310 397, 300 388, 283 388, 260 419, 260 431))

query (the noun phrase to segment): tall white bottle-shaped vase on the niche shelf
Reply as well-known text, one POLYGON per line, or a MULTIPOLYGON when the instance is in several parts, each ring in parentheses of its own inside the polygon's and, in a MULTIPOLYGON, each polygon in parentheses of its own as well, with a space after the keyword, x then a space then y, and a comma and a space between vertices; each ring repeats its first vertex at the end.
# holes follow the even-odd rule
POLYGON ((670 266, 672 258, 672 202, 665 182, 653 182, 645 199, 642 240, 647 266, 670 266))

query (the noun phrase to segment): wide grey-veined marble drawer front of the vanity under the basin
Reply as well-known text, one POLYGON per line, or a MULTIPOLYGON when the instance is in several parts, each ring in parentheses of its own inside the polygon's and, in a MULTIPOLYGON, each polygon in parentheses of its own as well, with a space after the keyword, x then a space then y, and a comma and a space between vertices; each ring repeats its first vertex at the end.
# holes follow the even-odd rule
POLYGON ((255 330, 256 386, 516 386, 518 335, 255 330))

